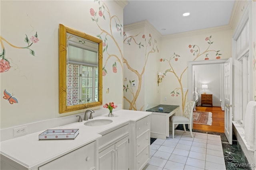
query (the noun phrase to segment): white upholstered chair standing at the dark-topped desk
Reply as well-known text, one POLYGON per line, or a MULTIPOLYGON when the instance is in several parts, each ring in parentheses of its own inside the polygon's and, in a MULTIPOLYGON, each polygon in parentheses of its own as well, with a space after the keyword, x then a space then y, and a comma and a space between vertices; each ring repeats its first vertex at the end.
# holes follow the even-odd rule
POLYGON ((186 132, 186 124, 189 125, 189 130, 192 138, 194 138, 192 133, 192 124, 193 124, 193 109, 195 102, 187 100, 185 103, 185 108, 183 111, 183 116, 172 116, 172 138, 174 138, 174 127, 177 124, 183 124, 184 131, 186 132))

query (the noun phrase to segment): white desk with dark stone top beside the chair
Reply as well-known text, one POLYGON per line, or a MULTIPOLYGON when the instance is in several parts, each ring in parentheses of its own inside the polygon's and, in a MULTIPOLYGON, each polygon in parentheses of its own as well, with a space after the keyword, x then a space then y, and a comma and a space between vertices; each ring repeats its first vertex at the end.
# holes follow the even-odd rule
POLYGON ((169 117, 179 109, 180 106, 161 104, 146 110, 152 112, 150 114, 150 137, 157 139, 169 137, 169 117), (164 110, 158 110, 158 107, 163 107, 164 110))

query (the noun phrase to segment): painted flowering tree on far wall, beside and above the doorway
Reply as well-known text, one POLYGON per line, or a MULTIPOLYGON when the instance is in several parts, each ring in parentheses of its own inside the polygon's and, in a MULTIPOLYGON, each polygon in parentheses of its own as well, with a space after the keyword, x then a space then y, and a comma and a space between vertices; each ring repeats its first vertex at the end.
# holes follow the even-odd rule
MULTIPOLYGON (((200 47, 198 45, 189 45, 188 47, 190 48, 190 52, 193 53, 193 56, 195 56, 195 58, 192 60, 192 61, 195 61, 196 59, 198 59, 198 57, 202 56, 202 55, 205 55, 205 58, 204 60, 209 60, 208 58, 208 55, 210 52, 215 52, 216 53, 216 59, 220 59, 220 51, 216 51, 216 50, 210 50, 210 46, 212 45, 212 41, 211 41, 211 38, 212 38, 212 35, 210 37, 206 37, 205 38, 205 41, 207 41, 208 43, 208 47, 206 48, 206 50, 202 53, 200 53, 200 47), (191 49, 192 48, 192 49, 191 49)), ((179 84, 180 84, 180 87, 179 88, 175 88, 170 94, 171 96, 179 96, 180 93, 178 92, 178 90, 181 91, 181 95, 182 95, 182 110, 184 110, 184 106, 185 106, 185 102, 186 102, 186 96, 188 94, 188 90, 186 91, 186 93, 184 94, 183 92, 183 86, 182 86, 182 76, 184 74, 184 72, 188 69, 188 66, 182 71, 182 73, 180 74, 180 76, 178 76, 176 74, 176 71, 174 70, 174 68, 172 67, 172 63, 171 61, 174 60, 174 61, 178 61, 178 57, 180 57, 180 55, 177 55, 174 53, 174 55, 172 55, 170 57, 170 59, 160 59, 160 62, 164 62, 164 61, 168 61, 168 64, 170 66, 169 69, 166 69, 165 72, 164 72, 164 76, 166 76, 166 73, 167 72, 170 72, 172 74, 174 74, 174 76, 177 78, 179 84)))

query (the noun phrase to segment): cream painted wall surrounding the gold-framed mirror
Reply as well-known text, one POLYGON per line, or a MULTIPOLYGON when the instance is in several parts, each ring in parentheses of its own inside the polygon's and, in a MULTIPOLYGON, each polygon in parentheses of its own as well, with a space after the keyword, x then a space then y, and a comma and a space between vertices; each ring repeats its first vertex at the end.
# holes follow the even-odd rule
MULTIPOLYGON (((11 66, 10 70, 0 73, 0 93, 3 96, 6 89, 18 100, 17 104, 9 104, 1 97, 1 129, 85 111, 84 109, 59 113, 58 28, 60 23, 94 37, 100 35, 108 44, 108 53, 106 51, 103 53, 103 66, 108 69, 108 74, 103 77, 103 103, 115 102, 117 105, 122 105, 123 28, 117 29, 115 22, 123 25, 124 6, 121 6, 121 2, 118 4, 115 1, 1 1, 0 3, 1 53, 5 49, 5 59, 11 66), (102 8, 105 18, 98 15, 99 7, 102 6, 107 7, 102 8), (90 14, 91 8, 96 12, 95 18, 90 14), (107 15, 108 12, 110 16, 107 15), (112 16, 115 16, 115 21, 110 20, 112 16), (92 19, 97 19, 97 23, 92 19), (27 46, 24 42, 26 35, 30 39, 36 33, 39 41, 29 47, 35 52, 35 56, 32 56, 29 49, 19 47, 27 46), (117 63, 117 73, 112 71, 114 62, 117 63), (109 93, 106 93, 108 88, 109 93)), ((93 109, 99 108, 102 106, 93 109)))

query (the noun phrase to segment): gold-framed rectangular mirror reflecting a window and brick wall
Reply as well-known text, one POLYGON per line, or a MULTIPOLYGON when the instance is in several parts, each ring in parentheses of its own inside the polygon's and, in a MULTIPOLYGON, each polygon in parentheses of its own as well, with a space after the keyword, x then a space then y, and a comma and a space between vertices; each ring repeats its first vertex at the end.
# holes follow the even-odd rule
POLYGON ((102 105, 102 40, 59 26, 59 112, 102 105))

